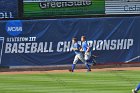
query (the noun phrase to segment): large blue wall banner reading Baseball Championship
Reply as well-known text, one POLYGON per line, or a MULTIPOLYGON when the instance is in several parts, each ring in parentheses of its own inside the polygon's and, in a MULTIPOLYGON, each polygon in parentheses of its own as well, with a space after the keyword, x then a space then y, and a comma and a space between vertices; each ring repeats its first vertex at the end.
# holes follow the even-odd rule
POLYGON ((140 17, 0 21, 1 66, 71 64, 71 39, 82 35, 100 64, 140 62, 139 25, 140 17))

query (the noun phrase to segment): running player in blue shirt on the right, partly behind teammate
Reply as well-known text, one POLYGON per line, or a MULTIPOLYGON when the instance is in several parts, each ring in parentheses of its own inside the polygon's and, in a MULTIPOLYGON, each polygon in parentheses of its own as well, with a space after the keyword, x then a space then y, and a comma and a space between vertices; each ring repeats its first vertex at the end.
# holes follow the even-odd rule
POLYGON ((90 65, 95 65, 95 60, 91 55, 91 49, 89 47, 89 45, 86 42, 86 37, 85 36, 81 36, 81 41, 82 41, 82 50, 84 52, 84 58, 85 60, 88 62, 88 64, 90 65))

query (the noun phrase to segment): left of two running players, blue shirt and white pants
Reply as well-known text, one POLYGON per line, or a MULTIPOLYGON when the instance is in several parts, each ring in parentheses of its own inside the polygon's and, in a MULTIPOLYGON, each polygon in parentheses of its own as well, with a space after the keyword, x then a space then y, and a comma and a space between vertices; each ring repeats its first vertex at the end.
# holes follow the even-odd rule
POLYGON ((75 58, 74 58, 74 61, 73 61, 73 64, 72 64, 72 69, 69 70, 70 72, 74 72, 74 69, 75 69, 75 66, 76 66, 76 63, 78 62, 78 60, 81 60, 87 67, 87 71, 91 71, 90 69, 90 66, 87 64, 87 62, 85 61, 84 57, 83 57, 83 54, 81 53, 80 49, 81 49, 81 46, 77 43, 77 38, 73 38, 72 39, 72 42, 73 42, 73 51, 75 52, 75 58))

